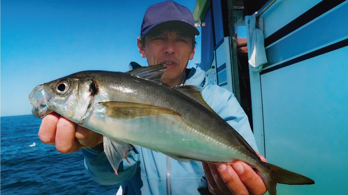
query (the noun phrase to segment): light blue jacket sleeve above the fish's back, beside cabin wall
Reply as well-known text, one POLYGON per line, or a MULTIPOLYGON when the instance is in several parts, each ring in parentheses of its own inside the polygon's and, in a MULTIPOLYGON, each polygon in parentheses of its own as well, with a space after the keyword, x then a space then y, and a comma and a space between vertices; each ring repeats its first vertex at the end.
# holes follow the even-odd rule
POLYGON ((207 84, 202 89, 202 96, 216 114, 258 151, 248 117, 232 92, 217 85, 207 84))

